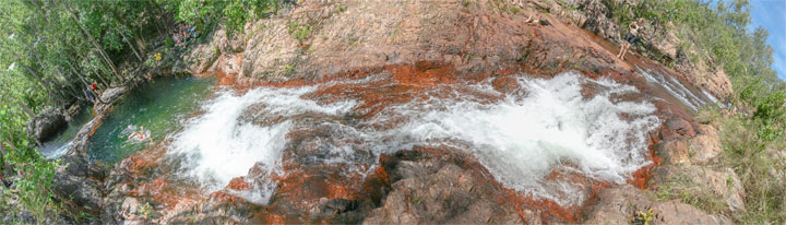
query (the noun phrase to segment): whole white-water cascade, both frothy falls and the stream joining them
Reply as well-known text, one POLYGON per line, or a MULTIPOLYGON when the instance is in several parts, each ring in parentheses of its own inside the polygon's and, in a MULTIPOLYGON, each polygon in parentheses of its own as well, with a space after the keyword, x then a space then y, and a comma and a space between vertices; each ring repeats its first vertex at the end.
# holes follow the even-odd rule
MULTIPOLYGON (((291 141, 287 133, 320 127, 333 134, 320 137, 327 143, 322 149, 329 150, 310 156, 317 157, 312 162, 358 169, 358 165, 376 162, 381 153, 415 145, 452 146, 474 154, 505 187, 563 205, 583 199, 573 192, 580 185, 546 178, 556 168, 596 180, 624 182, 631 173, 650 164, 645 158, 646 137, 658 121, 652 116, 652 104, 620 99, 638 92, 634 87, 588 80, 575 72, 551 80, 521 76, 516 82, 522 88, 516 94, 499 93, 490 81, 438 85, 428 91, 426 99, 416 97, 391 105, 369 119, 353 122, 343 118, 359 110, 356 106, 360 99, 319 104, 305 97, 338 84, 335 82, 262 87, 241 96, 227 91, 206 104, 204 115, 189 121, 175 137, 170 154, 183 157, 184 175, 217 190, 230 179, 245 176, 257 162, 266 173, 279 173, 282 151, 291 141), (594 96, 582 95, 586 86, 593 86, 594 96), (472 91, 455 91, 458 88, 472 91), (501 97, 483 100, 472 93, 501 97), (254 109, 257 116, 281 119, 264 127, 242 122, 239 118, 251 105, 262 106, 254 109)), ((265 203, 275 183, 269 183, 260 188, 266 192, 257 196, 261 196, 258 202, 265 203)))

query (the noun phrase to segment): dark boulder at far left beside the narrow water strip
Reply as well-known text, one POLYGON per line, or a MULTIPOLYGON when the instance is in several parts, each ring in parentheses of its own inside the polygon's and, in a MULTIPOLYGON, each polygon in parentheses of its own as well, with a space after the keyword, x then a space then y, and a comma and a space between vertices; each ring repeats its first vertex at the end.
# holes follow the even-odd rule
POLYGON ((38 142, 45 142, 66 129, 66 116, 57 108, 44 109, 27 123, 27 135, 38 142))

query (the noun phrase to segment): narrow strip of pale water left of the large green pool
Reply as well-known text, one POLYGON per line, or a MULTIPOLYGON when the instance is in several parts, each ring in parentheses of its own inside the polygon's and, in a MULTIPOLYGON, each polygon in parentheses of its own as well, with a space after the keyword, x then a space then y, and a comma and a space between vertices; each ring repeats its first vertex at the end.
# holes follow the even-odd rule
POLYGON ((83 108, 76 116, 74 116, 69 122, 69 127, 60 133, 57 138, 45 142, 41 146, 41 153, 47 158, 58 158, 64 154, 71 147, 71 141, 73 141, 80 128, 93 119, 93 107, 83 108))

